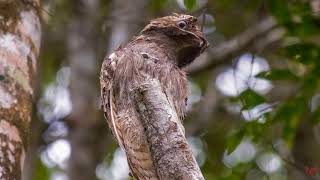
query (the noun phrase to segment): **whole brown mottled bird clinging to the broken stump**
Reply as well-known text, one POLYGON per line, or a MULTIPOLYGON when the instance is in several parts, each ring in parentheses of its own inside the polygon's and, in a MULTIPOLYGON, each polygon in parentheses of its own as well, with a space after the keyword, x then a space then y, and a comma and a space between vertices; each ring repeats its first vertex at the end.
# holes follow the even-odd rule
POLYGON ((184 66, 207 47, 196 25, 197 18, 173 14, 152 20, 125 46, 105 58, 100 75, 105 117, 125 151, 135 179, 159 179, 154 168, 147 137, 135 108, 133 89, 146 75, 158 79, 163 92, 184 118, 188 96, 184 66))

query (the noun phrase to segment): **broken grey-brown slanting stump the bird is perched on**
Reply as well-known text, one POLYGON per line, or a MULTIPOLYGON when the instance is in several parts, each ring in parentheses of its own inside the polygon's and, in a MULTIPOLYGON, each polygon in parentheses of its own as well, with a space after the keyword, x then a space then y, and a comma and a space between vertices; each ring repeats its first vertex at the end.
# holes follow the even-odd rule
POLYGON ((158 177, 163 180, 204 179, 173 103, 162 91, 159 81, 146 80, 137 87, 136 96, 158 177))

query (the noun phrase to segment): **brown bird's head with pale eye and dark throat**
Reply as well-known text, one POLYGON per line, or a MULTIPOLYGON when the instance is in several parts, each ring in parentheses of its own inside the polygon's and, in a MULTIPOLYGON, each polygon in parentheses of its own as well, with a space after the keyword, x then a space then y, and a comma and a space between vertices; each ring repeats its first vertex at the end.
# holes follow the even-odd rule
POLYGON ((179 67, 191 63, 209 46, 197 26, 197 18, 190 15, 174 13, 171 16, 157 18, 141 31, 141 34, 154 33, 166 35, 177 44, 175 51, 179 67))

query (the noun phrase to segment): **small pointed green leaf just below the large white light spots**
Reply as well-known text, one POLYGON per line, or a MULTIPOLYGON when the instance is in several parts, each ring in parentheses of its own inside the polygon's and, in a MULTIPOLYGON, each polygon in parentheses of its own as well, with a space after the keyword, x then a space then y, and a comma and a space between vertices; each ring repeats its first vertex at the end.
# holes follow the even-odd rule
POLYGON ((243 91, 238 97, 235 98, 235 100, 242 103, 242 109, 251 109, 266 101, 263 96, 251 89, 243 91))

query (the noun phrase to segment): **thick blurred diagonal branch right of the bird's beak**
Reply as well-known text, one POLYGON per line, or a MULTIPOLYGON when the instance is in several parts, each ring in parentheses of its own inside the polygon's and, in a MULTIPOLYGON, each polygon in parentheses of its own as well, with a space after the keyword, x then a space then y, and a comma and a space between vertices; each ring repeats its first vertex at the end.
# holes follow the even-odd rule
POLYGON ((236 36, 235 38, 225 41, 209 50, 210 58, 204 58, 194 62, 185 70, 189 73, 197 73, 205 69, 223 63, 224 60, 235 53, 250 47, 258 37, 264 36, 271 29, 276 27, 277 23, 272 17, 266 17, 259 23, 249 27, 247 30, 236 36))

